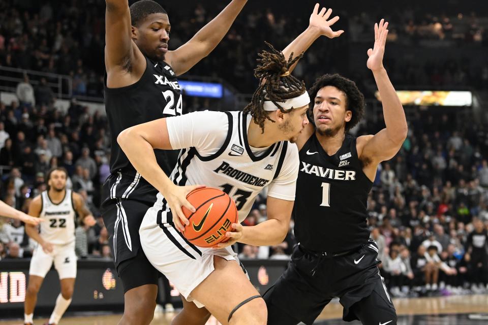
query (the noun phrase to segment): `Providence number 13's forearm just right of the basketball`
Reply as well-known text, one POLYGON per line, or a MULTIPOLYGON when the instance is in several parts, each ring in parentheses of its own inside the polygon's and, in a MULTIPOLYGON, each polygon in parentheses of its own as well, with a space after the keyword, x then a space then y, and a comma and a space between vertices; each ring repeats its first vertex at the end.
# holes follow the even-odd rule
POLYGON ((268 219, 257 225, 243 227, 242 237, 238 241, 253 246, 281 244, 289 228, 289 224, 285 223, 283 220, 268 219))

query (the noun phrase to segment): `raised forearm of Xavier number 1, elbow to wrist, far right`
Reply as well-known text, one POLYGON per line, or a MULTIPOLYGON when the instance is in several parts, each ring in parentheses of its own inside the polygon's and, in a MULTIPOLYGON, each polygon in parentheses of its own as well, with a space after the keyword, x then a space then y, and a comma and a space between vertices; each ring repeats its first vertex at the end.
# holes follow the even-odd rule
POLYGON ((402 103, 384 68, 373 71, 373 76, 383 104, 383 116, 388 138, 396 144, 402 144, 407 138, 408 132, 407 119, 402 103))

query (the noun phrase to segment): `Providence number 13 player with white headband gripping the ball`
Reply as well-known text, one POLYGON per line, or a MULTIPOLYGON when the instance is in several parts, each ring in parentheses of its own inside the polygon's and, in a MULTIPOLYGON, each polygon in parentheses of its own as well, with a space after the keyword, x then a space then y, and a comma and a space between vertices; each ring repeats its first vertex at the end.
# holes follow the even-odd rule
POLYGON ((230 245, 277 245, 288 231, 295 197, 298 151, 310 98, 288 60, 271 47, 260 54, 255 76, 261 86, 243 112, 195 112, 133 126, 117 141, 136 170, 158 190, 145 214, 141 245, 150 263, 187 301, 205 306, 223 324, 265 324, 266 306, 236 262, 230 245), (287 140, 290 140, 288 142, 287 140), (154 149, 182 149, 168 178, 154 149), (222 188, 234 199, 241 222, 257 194, 268 186, 268 220, 256 226, 232 223, 229 242, 201 248, 181 232, 195 211, 186 195, 200 185, 222 188))

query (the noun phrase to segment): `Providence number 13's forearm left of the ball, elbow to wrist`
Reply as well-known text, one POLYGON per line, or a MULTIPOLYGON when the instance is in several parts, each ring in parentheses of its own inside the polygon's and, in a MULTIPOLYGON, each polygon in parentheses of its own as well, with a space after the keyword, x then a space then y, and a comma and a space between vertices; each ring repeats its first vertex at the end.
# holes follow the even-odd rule
POLYGON ((151 144, 131 128, 118 135, 117 143, 136 171, 164 196, 173 183, 159 167, 151 144))

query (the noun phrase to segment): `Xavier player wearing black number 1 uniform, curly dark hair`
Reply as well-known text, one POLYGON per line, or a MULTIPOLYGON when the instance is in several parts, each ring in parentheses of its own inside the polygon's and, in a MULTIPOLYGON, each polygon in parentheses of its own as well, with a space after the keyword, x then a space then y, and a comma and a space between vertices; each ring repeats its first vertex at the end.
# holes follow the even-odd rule
POLYGON ((403 107, 383 67, 387 26, 383 20, 375 24, 367 62, 383 103, 385 129, 374 136, 347 135, 364 114, 363 95, 351 80, 324 75, 309 90, 315 128, 307 126, 297 140, 293 215, 299 244, 285 273, 264 294, 270 325, 312 324, 334 297, 344 306, 345 321, 396 324, 377 268, 378 247, 366 223, 376 168, 398 152, 407 136, 403 107))

